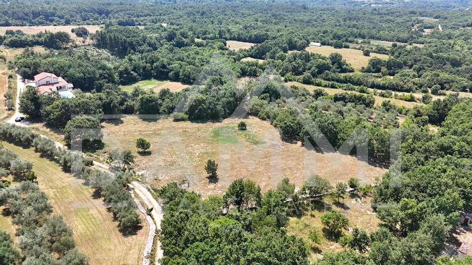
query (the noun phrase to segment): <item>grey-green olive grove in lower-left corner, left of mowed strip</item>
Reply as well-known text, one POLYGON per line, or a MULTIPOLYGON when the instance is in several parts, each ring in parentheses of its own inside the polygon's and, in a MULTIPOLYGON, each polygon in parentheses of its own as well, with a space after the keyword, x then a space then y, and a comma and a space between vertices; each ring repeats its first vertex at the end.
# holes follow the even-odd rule
MULTIPOLYGON (((14 187, 5 187, 0 184, 0 205, 8 208, 13 217, 13 224, 18 226, 16 236, 20 238, 18 247, 23 257, 20 257, 15 248, 2 249, 7 255, 0 259, 4 264, 15 264, 20 260, 23 264, 54 264, 54 265, 87 265, 87 257, 78 252, 72 229, 63 221, 62 216, 52 215, 52 206, 46 194, 35 180, 32 163, 22 160, 9 149, 0 150, 0 173, 10 174, 22 181, 14 187), (7 254, 9 253, 9 254, 7 254)), ((2 235, 2 241, 8 242, 9 237, 2 235)), ((10 239, 11 240, 11 239, 10 239)))

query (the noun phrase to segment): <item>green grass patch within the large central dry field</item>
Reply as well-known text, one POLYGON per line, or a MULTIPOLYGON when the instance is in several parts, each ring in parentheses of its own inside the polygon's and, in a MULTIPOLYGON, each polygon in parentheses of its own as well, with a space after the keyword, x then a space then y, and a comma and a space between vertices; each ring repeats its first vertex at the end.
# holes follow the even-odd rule
POLYGON ((229 125, 213 129, 212 137, 219 143, 227 144, 237 144, 242 142, 251 145, 258 145, 266 142, 259 134, 250 131, 238 130, 236 125, 229 125))

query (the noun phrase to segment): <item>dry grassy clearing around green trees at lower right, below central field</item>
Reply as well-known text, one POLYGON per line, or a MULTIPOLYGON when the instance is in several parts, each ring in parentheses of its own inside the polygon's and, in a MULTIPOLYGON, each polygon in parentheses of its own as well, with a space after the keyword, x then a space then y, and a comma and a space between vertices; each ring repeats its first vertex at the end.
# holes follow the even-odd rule
MULTIPOLYGON (((290 217, 287 225, 287 233, 289 235, 295 235, 301 237, 310 244, 308 239, 308 233, 312 230, 318 231, 322 236, 320 244, 314 244, 313 247, 309 245, 309 259, 314 261, 321 258, 321 252, 335 252, 343 250, 343 247, 337 242, 331 241, 324 237, 323 224, 321 223, 321 215, 326 211, 336 210, 343 213, 349 219, 349 228, 354 225, 365 229, 368 233, 373 232, 379 228, 380 220, 374 213, 370 205, 370 198, 359 199, 351 194, 346 194, 345 199, 340 199, 338 203, 337 199, 326 197, 323 203, 316 203, 316 210, 306 212, 305 215, 298 217, 290 217)), ((344 231, 346 234, 350 234, 349 231, 344 231)))

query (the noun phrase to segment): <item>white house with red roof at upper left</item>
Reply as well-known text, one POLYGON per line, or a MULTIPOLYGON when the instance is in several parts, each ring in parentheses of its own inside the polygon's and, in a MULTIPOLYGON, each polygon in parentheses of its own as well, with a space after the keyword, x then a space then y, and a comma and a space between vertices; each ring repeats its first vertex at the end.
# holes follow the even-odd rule
MULTIPOLYGON (((66 92, 66 95, 71 94, 70 90, 74 87, 71 83, 66 82, 63 78, 57 77, 55 74, 42 72, 34 76, 36 89, 39 95, 47 95, 53 91, 66 92)), ((70 97, 70 96, 67 96, 70 97)))

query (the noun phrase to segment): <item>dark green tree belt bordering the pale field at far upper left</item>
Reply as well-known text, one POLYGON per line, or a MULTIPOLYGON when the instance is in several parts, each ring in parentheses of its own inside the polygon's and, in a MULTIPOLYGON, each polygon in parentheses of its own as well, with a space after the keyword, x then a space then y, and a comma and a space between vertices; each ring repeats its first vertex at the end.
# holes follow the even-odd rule
POLYGON ((72 43, 69 33, 59 31, 39 32, 36 34, 26 34, 21 30, 5 31, 5 35, 0 36, 0 45, 10 48, 25 48, 41 45, 50 49, 63 49, 72 43))

